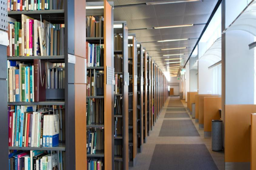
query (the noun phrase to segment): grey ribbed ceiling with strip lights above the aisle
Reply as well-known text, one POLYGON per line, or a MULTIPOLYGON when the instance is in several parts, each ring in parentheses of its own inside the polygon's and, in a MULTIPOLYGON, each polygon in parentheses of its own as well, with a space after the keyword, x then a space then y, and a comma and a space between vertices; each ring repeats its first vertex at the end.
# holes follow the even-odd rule
MULTIPOLYGON (((98 2, 103 0, 86 1, 98 2)), ((169 0, 113 0, 115 6, 160 1, 169 0)), ((163 72, 169 72, 167 65, 171 67, 171 64, 166 64, 166 62, 180 60, 167 61, 165 59, 181 57, 181 67, 185 65, 217 2, 218 0, 202 0, 197 2, 181 2, 161 5, 134 5, 119 8, 115 8, 114 6, 114 21, 126 21, 129 33, 136 34, 137 42, 141 42, 142 47, 145 48, 149 56, 155 60, 163 72), (187 24, 194 25, 189 27, 132 30, 187 24), (188 40, 156 42, 159 40, 173 39, 188 40), (179 50, 161 50, 180 47, 187 48, 179 50), (163 56, 169 54, 184 55, 163 56)))

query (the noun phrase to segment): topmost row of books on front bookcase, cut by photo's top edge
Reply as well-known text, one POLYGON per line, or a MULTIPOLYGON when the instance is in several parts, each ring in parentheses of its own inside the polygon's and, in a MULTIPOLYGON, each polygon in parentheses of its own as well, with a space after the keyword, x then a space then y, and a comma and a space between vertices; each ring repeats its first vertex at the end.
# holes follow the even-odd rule
POLYGON ((8 11, 64 9, 64 0, 8 0, 8 11))

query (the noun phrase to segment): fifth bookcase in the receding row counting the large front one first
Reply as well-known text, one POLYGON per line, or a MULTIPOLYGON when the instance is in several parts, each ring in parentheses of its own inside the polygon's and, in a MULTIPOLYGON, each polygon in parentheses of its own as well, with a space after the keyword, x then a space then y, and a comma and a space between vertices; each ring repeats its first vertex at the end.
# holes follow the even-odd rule
POLYGON ((137 56, 138 56, 138 78, 137 78, 137 98, 138 98, 138 107, 137 107, 137 139, 138 139, 138 152, 143 150, 143 139, 144 139, 144 107, 143 107, 143 48, 140 43, 137 43, 137 56))

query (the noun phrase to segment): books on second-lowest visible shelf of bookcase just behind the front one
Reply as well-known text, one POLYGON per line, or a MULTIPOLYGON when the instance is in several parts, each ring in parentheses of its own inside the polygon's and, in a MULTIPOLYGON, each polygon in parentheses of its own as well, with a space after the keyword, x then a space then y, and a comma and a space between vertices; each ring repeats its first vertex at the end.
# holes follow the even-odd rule
POLYGON ((86 132, 87 154, 96 154, 104 150, 104 129, 89 129, 86 132))

